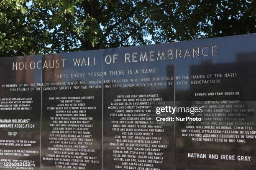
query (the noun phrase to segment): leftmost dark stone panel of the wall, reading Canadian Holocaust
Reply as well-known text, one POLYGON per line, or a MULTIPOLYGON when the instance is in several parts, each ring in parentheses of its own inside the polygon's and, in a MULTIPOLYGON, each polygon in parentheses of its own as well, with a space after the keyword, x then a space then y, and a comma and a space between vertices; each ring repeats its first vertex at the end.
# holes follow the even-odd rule
POLYGON ((0 120, 10 120, 0 124, 13 125, 0 128, 0 169, 5 168, 4 163, 28 161, 39 170, 41 90, 31 88, 41 83, 41 70, 13 69, 13 63, 39 60, 41 55, 0 58, 0 120))

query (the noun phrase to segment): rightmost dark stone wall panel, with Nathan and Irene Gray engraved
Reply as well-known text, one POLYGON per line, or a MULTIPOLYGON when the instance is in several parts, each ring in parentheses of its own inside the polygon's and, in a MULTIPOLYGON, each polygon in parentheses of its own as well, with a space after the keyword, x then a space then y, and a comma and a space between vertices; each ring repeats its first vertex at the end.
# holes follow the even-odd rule
POLYGON ((255 167, 256 140, 246 137, 246 133, 256 130, 255 40, 254 34, 175 43, 176 49, 185 52, 188 48, 191 55, 185 58, 178 55, 175 60, 175 75, 181 77, 175 85, 175 104, 179 107, 204 106, 202 115, 194 115, 202 117, 202 122, 177 122, 175 126, 177 170, 242 170, 255 167), (196 50, 199 47, 200 57, 197 54, 192 57, 193 47, 196 50), (208 56, 202 54, 204 47, 208 56), (182 79, 182 76, 189 78, 182 79), (188 84, 182 85, 182 81, 188 84), (245 126, 251 127, 251 130, 241 130, 241 133, 239 128, 245 126), (186 133, 181 133, 181 129, 200 132, 187 133, 197 137, 182 137, 186 133), (212 130, 220 130, 220 133, 212 130), (234 130, 238 133, 231 132, 234 130), (224 135, 236 136, 227 138, 224 135), (202 141, 193 141, 196 138, 202 141), (205 154, 206 158, 189 158, 191 153, 205 154), (209 158, 209 154, 218 155, 218 159, 209 158), (221 155, 234 157, 234 160, 221 159, 221 155), (239 160, 241 156, 251 156, 251 160, 239 160))

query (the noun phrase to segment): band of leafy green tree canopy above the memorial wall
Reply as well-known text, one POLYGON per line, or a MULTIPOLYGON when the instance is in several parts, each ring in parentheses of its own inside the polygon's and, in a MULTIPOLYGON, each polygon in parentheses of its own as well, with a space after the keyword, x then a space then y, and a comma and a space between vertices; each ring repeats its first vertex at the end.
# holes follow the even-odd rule
POLYGON ((253 0, 2 0, 0 56, 254 33, 253 0))

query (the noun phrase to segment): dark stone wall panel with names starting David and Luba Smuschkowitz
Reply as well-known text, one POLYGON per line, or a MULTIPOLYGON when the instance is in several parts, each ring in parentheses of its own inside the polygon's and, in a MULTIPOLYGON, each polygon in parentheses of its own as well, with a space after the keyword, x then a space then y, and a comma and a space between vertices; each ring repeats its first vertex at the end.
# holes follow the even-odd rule
POLYGON ((173 51, 174 43, 104 50, 118 58, 103 65, 104 170, 174 169, 174 124, 157 124, 154 108, 174 105, 173 51))

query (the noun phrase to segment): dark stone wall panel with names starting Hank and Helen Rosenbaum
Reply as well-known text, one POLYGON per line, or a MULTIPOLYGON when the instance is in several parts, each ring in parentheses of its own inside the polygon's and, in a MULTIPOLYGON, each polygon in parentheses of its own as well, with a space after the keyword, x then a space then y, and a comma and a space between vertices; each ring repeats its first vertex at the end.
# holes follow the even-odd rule
POLYGON ((41 170, 101 169, 102 77, 88 73, 102 71, 102 51, 43 55, 53 59, 64 67, 43 69, 41 170))

